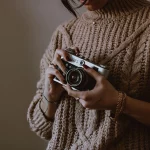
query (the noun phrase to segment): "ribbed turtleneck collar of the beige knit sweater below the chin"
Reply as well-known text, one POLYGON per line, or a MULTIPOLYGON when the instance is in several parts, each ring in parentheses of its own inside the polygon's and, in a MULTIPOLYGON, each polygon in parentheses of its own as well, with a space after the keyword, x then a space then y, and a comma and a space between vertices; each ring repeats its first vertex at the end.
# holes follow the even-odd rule
POLYGON ((86 11, 82 17, 89 23, 102 19, 117 19, 150 6, 148 0, 109 0, 101 9, 95 11, 86 11))

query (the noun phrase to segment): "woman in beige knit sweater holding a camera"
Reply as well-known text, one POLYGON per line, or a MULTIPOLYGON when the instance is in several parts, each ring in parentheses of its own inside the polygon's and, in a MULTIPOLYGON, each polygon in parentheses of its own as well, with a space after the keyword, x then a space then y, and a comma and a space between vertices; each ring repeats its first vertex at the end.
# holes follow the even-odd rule
MULTIPOLYGON (((30 127, 49 141, 47 150, 149 150, 150 3, 80 2, 87 12, 56 29, 41 59, 41 78, 28 109, 30 127), (107 65, 108 80, 84 65, 96 85, 72 90, 56 68, 66 72, 60 58, 70 60, 63 49, 69 47, 107 65), (66 86, 54 82, 55 76, 66 86)), ((75 15, 67 0, 63 3, 75 15)))

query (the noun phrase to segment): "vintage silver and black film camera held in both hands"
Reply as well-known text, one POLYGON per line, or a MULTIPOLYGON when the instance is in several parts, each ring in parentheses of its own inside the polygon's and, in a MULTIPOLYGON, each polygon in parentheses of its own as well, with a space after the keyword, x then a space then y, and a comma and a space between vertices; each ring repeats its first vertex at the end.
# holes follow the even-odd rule
MULTIPOLYGON (((86 71, 84 71, 83 65, 87 65, 93 68, 95 71, 99 72, 105 78, 109 75, 109 70, 103 65, 97 66, 85 59, 75 55, 74 49, 66 49, 69 53, 71 61, 65 61, 63 58, 62 62, 67 68, 66 74, 64 74, 59 68, 57 68, 60 73, 64 76, 66 82, 71 86, 73 90, 87 91, 92 90, 96 84, 96 81, 91 77, 86 71)), ((56 77, 54 81, 63 84, 56 77)))

